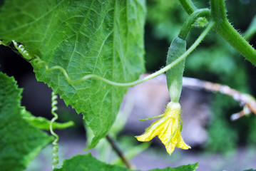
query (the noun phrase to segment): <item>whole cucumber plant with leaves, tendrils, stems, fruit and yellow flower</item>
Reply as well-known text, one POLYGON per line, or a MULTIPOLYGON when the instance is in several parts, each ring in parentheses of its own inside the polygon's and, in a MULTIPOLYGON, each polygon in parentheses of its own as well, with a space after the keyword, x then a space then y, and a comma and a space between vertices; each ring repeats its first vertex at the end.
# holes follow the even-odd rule
MULTIPOLYGON (((53 130, 67 128, 73 123, 54 122, 58 118, 55 93, 66 105, 81 113, 86 126, 93 130, 95 137, 87 147, 89 149, 106 137, 127 88, 165 72, 171 102, 165 113, 159 115, 162 118, 136 138, 148 141, 158 135, 169 154, 175 147, 189 149, 180 134, 183 123, 179 99, 185 58, 210 31, 220 34, 254 66, 256 50, 227 20, 224 0, 210 0, 206 9, 198 9, 190 0, 179 0, 179 3, 189 17, 170 45, 166 66, 138 79, 145 71, 145 0, 3 1, 0 6, 0 44, 16 48, 33 66, 36 79, 52 88, 54 118, 51 121, 32 121, 31 118, 38 118, 21 107, 21 90, 17 88, 14 78, 1 73, 1 168, 24 170, 42 147, 53 142, 53 170, 126 170, 99 162, 90 154, 72 157, 65 160, 61 168, 56 168, 58 135, 53 130), (186 38, 193 26, 205 29, 187 49, 186 38), (55 138, 39 130, 45 125, 55 138), (18 130, 19 133, 16 132, 18 130), (29 136, 23 138, 16 134, 29 136), (21 150, 17 142, 21 142, 25 150, 21 150)), ((195 170, 196 167, 197 164, 183 165, 173 170, 195 170)))

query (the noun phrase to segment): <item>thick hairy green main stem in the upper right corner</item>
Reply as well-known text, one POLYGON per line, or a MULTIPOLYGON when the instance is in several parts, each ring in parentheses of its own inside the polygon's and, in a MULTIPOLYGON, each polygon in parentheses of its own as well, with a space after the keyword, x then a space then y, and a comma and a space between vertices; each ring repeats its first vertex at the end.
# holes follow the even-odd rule
POLYGON ((256 66, 256 50, 227 21, 224 0, 210 0, 210 3, 211 14, 216 23, 215 31, 241 53, 242 56, 256 66))

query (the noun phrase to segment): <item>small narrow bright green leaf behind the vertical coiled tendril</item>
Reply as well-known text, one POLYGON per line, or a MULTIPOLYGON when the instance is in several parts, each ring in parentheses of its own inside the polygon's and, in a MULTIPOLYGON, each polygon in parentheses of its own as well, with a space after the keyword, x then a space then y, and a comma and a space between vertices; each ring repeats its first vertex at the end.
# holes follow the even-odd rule
MULTIPOLYGON (((29 123, 31 123, 32 125, 34 125, 36 128, 39 128, 41 130, 50 130, 50 123, 51 120, 48 120, 46 118, 43 118, 41 116, 34 116, 31 113, 29 113, 29 111, 25 110, 25 108, 23 108, 22 110, 22 117, 29 121, 29 123)), ((66 129, 69 128, 71 126, 73 126, 75 123, 73 123, 73 121, 68 121, 66 123, 53 123, 53 129, 66 129)))

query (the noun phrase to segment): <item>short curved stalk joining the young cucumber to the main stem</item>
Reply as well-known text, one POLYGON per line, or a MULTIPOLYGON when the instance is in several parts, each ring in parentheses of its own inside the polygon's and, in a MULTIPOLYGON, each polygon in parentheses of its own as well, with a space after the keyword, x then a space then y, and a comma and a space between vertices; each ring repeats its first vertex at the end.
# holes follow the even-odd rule
POLYGON ((198 17, 202 16, 210 16, 210 9, 198 9, 194 11, 192 14, 190 14, 188 19, 183 24, 183 27, 181 28, 178 36, 185 40, 195 20, 198 19, 198 17))

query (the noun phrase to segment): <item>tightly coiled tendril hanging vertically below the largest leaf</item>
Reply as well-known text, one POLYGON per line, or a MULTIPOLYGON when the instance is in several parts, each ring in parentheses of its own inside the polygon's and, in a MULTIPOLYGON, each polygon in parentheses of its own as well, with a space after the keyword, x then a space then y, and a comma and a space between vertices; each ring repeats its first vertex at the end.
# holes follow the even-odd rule
POLYGON ((52 163, 52 168, 53 170, 55 169, 55 166, 58 164, 58 155, 57 155, 57 152, 58 152, 58 135, 56 133, 53 132, 53 123, 55 122, 55 120, 58 119, 58 115, 57 113, 55 112, 56 110, 58 110, 58 107, 56 106, 57 105, 57 95, 55 93, 51 93, 51 114, 54 116, 52 119, 51 119, 51 123, 50 123, 50 132, 51 132, 51 135, 53 135, 55 137, 55 140, 53 141, 53 163, 52 163))

